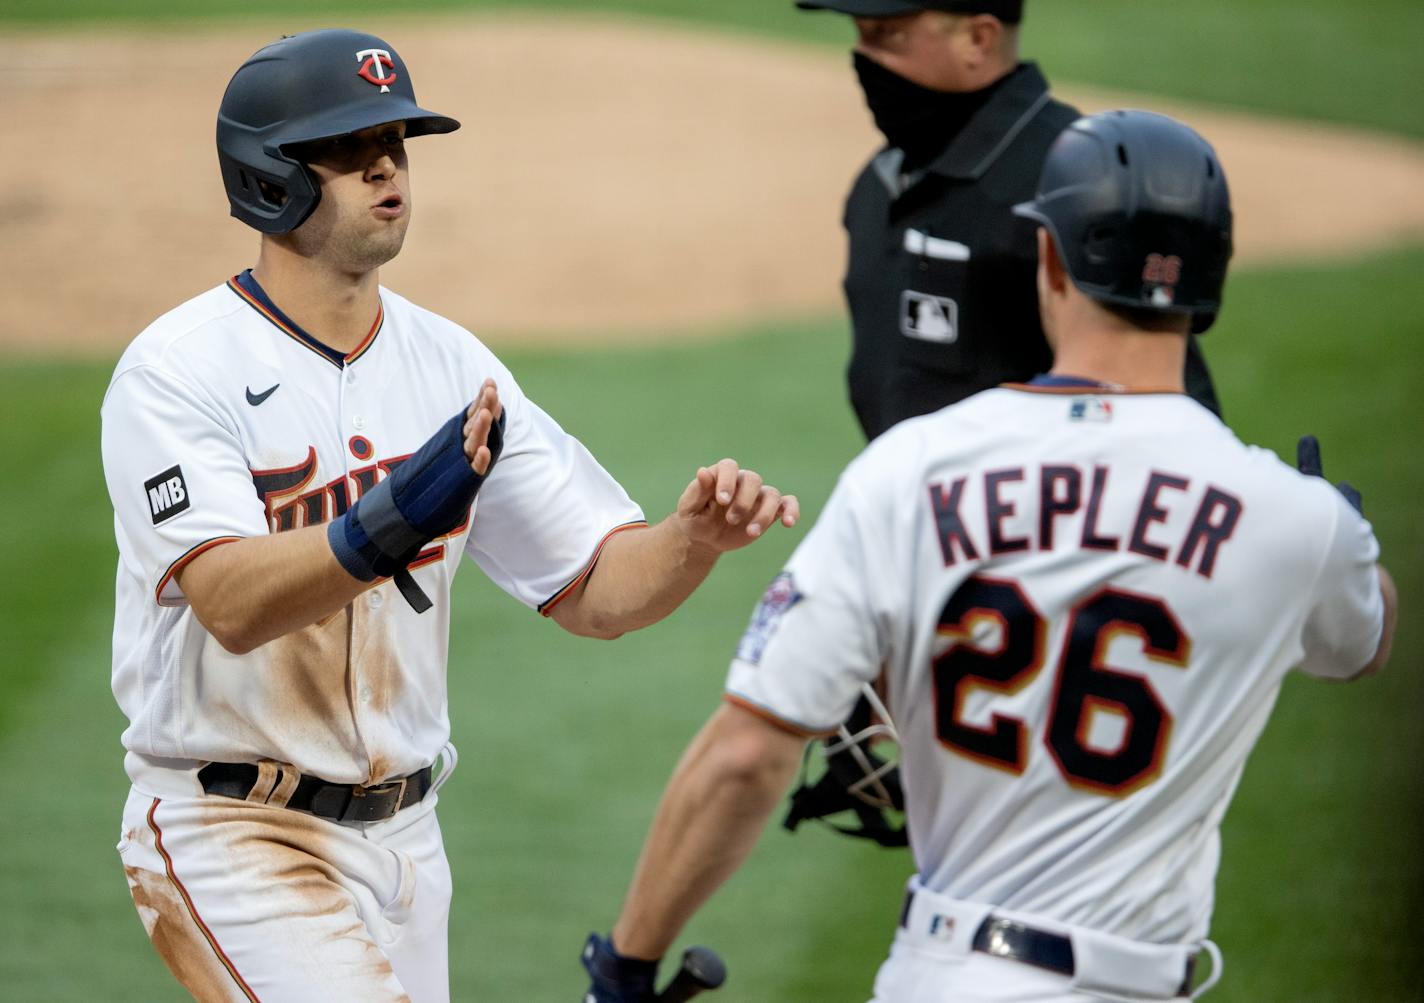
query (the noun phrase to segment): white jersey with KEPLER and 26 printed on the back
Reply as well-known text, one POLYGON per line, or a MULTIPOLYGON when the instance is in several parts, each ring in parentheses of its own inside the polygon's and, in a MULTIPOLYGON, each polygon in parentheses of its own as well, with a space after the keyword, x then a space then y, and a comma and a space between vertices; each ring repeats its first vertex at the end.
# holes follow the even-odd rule
POLYGON ((1377 554, 1185 396, 988 390, 852 463, 728 700, 830 731, 884 665, 924 888, 1195 942, 1282 678, 1374 655, 1377 554))

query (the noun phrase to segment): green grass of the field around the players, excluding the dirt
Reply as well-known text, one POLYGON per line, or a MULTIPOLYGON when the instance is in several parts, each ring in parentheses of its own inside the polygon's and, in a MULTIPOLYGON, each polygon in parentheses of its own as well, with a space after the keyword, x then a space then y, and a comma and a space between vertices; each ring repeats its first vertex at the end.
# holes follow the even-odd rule
MULTIPOLYGON (((839 37, 833 20, 797 19, 779 0, 762 24, 769 3, 729 0, 718 19, 782 34, 816 21, 807 37, 839 37)), ((686 17, 702 7, 597 6, 686 17)), ((1168 30, 1141 7, 1038 3, 1045 27, 1067 27, 1035 47, 1062 78, 1424 135, 1410 101, 1366 100, 1418 93, 1408 56, 1408 38, 1424 34, 1415 3, 1304 10, 1255 0, 1243 14, 1245 4, 1203 0, 1161 14, 1168 30), (1230 31, 1205 30, 1225 23, 1230 31), (1106 24, 1136 34, 1109 53, 1106 24), (1277 31, 1289 46, 1252 44, 1277 31), (1208 47, 1212 60, 1255 48, 1259 71, 1242 58, 1205 73, 1208 47), (1297 57, 1330 64, 1330 77, 1303 81, 1297 57), (1411 80, 1413 91, 1398 90, 1411 80)), ((303 13, 356 21, 363 9, 313 0, 303 13)), ((9 0, 0 19, 135 21, 195 10, 192 0, 9 0)), ((1292 680, 1282 692, 1223 828, 1213 936, 1227 969, 1213 1003, 1424 1000, 1424 624, 1414 613, 1424 593, 1424 453, 1413 440, 1424 429, 1421 272, 1424 248, 1246 272, 1206 341, 1243 439, 1289 456, 1296 436, 1314 432, 1327 472, 1363 489, 1404 606, 1390 672, 1353 687, 1292 680)), ((675 348, 501 355, 651 516, 666 511, 695 464, 721 454, 793 487, 815 516, 860 445, 843 399, 846 345, 844 322, 829 316, 675 348)), ((10 792, 0 815, 0 999, 24 1003, 184 999, 145 942, 112 852, 127 779, 124 722, 108 692, 115 551, 97 443, 111 365, 0 356, 0 449, 13 470, 0 482, 11 561, 0 578, 10 792)), ((577 999, 582 937, 612 920, 661 785, 715 705, 752 603, 800 534, 778 531, 728 557, 669 621, 611 644, 562 635, 467 568, 450 662, 463 758, 441 805, 456 873, 456 1000, 577 999)), ((903 852, 773 826, 689 930, 732 969, 733 982, 709 999, 866 999, 909 871, 903 852)))

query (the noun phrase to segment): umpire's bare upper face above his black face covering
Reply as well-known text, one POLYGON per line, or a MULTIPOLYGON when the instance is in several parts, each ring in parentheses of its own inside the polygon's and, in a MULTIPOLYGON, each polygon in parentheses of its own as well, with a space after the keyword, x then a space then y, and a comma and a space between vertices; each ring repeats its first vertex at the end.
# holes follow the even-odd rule
POLYGON ((974 70, 983 56, 971 19, 923 10, 900 17, 857 17, 854 51, 921 87, 974 91, 984 84, 974 70))

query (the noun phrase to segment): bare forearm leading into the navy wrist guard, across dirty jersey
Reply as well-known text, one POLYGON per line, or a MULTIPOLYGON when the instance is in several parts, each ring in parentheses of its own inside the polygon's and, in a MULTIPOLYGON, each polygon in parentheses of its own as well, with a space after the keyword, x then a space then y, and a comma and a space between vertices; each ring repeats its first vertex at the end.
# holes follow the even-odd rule
POLYGON ((198 621, 234 654, 323 620, 372 584, 336 561, 325 526, 214 547, 178 576, 198 621))

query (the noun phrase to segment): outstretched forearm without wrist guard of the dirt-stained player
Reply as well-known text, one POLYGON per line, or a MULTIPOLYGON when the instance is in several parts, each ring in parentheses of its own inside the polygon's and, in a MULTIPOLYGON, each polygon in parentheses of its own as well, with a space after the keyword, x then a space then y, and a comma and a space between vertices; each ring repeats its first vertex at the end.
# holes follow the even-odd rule
POLYGON ((554 608, 554 621, 574 634, 614 638, 682 606, 718 554, 689 540, 675 519, 609 537, 582 588, 554 608))

